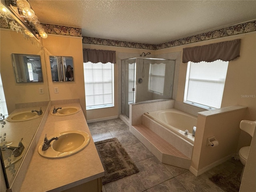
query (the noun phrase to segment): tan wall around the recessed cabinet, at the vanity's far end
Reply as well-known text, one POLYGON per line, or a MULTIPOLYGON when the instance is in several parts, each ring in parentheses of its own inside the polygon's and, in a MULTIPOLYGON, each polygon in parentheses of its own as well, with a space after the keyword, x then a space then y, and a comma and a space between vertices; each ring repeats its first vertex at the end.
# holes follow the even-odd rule
POLYGON ((45 49, 46 68, 51 101, 79 99, 80 105, 84 112, 84 116, 86 117, 82 38, 48 35, 46 39, 43 39, 43 45, 45 49), (52 82, 49 56, 72 56, 74 64, 74 81, 52 82), (58 87, 59 93, 54 93, 54 87, 58 87))

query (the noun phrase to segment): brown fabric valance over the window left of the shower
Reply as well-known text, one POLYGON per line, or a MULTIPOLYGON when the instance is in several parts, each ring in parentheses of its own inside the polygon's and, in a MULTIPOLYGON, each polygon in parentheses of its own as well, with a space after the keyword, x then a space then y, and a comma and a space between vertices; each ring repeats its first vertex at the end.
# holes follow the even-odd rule
POLYGON ((92 63, 116 63, 116 51, 83 49, 83 61, 92 63))

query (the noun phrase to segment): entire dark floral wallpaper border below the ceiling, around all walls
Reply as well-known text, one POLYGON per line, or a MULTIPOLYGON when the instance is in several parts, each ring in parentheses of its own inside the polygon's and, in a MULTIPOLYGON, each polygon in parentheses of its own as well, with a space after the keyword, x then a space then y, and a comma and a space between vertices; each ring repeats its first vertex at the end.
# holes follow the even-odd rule
MULTIPOLYGON (((1 28, 10 28, 10 26, 8 26, 8 23, 6 23, 5 20, 1 19, 0 21, 1 21, 0 23, 1 28)), ((47 34, 58 34, 58 35, 82 37, 81 28, 59 26, 59 25, 52 25, 52 24, 43 24, 43 23, 41 24, 47 34)), ((256 20, 242 23, 242 24, 237 24, 234 26, 230 26, 230 27, 226 27, 218 30, 213 30, 213 31, 198 34, 198 35, 181 38, 178 40, 161 43, 158 45, 91 38, 91 37, 83 37, 82 43, 159 50, 159 49, 164 49, 164 48, 169 48, 169 47, 174 47, 174 46, 179 46, 184 44, 190 44, 190 43, 195 43, 195 42, 200 42, 200 41, 205 41, 205 40, 210 40, 215 38, 227 37, 227 36, 232 36, 236 34, 243 34, 243 33, 253 32, 253 31, 256 31, 256 20)))

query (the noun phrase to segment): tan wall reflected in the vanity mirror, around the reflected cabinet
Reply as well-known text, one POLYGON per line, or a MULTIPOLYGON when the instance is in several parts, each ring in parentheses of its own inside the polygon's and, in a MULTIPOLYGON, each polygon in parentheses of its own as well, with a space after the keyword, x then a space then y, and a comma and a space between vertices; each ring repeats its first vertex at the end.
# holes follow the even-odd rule
POLYGON ((49 101, 48 81, 44 49, 34 38, 25 39, 19 32, 3 29, 0 32, 0 71, 8 114, 14 111, 16 103, 49 101), (43 80, 37 83, 16 83, 11 54, 40 55, 43 80), (39 94, 39 88, 44 88, 44 94, 39 94))

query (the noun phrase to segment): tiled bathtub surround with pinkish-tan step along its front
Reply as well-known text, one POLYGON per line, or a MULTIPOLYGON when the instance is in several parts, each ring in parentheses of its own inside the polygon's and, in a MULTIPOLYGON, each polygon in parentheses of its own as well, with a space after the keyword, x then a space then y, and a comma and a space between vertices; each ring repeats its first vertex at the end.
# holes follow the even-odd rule
POLYGON ((168 108, 174 108, 174 100, 130 104, 130 130, 161 162, 188 169, 193 143, 144 115, 168 108))

